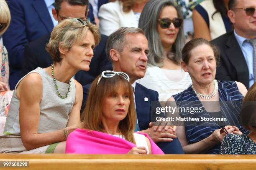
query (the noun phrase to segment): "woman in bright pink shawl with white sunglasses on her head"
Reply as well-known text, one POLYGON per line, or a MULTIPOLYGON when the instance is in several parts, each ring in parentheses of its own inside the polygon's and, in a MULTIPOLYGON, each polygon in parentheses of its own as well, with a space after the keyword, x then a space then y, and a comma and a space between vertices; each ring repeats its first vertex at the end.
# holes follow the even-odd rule
POLYGON ((124 72, 104 71, 92 82, 83 117, 83 129, 67 138, 66 153, 163 154, 148 135, 134 133, 133 88, 124 72))

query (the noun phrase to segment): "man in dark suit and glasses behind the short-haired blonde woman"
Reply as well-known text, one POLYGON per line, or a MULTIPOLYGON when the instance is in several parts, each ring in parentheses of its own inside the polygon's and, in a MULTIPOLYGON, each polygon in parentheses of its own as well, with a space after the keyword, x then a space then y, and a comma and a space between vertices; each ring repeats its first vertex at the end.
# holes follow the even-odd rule
MULTIPOLYGON (((67 18, 80 18, 81 20, 87 20, 88 15, 88 0, 55 0, 54 9, 52 9, 53 17, 56 21, 67 18)), ((90 63, 90 70, 80 70, 75 75, 75 79, 81 84, 86 85, 91 83, 97 75, 104 70, 111 70, 112 66, 109 62, 106 53, 105 45, 107 41, 106 35, 101 35, 99 45, 95 47, 94 55, 90 63)), ((26 75, 31 70, 37 67, 49 67, 52 64, 49 53, 45 50, 46 43, 49 42, 50 34, 45 35, 37 40, 30 42, 25 47, 25 54, 23 60, 23 75, 26 75)))

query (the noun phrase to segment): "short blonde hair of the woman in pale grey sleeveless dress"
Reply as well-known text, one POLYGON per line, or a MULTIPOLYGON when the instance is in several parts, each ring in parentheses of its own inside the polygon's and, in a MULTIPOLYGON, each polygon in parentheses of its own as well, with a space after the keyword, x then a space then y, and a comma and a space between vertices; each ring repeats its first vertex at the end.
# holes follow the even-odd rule
POLYGON ((46 50, 50 53, 54 63, 61 62, 62 60, 59 51, 60 42, 63 42, 60 46, 67 48, 69 51, 74 43, 81 42, 84 39, 88 30, 94 35, 95 45, 99 44, 100 33, 98 27, 91 23, 86 23, 85 21, 83 23, 84 25, 75 18, 68 18, 54 27, 49 43, 46 45, 46 50))

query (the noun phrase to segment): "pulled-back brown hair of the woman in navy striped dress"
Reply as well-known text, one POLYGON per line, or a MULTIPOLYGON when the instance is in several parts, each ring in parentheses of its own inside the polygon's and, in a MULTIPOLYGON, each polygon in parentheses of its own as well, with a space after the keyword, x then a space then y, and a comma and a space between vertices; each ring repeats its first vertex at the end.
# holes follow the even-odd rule
POLYGON ((188 65, 189 63, 189 59, 191 57, 191 51, 199 46, 199 45, 209 45, 212 48, 212 51, 214 53, 214 57, 216 60, 216 64, 218 65, 220 62, 220 52, 217 46, 215 46, 214 44, 210 43, 209 41, 205 40, 204 38, 195 38, 193 40, 190 40, 189 42, 187 42, 183 49, 182 49, 182 60, 183 62, 185 62, 186 65, 188 65))

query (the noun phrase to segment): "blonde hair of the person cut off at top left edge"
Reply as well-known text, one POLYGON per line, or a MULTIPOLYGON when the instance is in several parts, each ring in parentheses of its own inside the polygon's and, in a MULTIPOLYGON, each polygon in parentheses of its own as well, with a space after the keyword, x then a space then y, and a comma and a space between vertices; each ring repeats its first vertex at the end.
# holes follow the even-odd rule
POLYGON ((10 25, 10 10, 5 2, 5 0, 0 0, 0 24, 4 24, 3 28, 0 30, 0 35, 7 30, 10 25))

